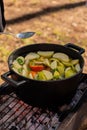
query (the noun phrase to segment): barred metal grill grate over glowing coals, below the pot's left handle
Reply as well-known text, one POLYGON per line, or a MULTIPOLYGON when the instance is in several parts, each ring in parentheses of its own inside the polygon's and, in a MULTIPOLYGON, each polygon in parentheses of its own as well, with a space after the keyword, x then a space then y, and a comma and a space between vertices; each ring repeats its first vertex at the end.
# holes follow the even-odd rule
POLYGON ((29 106, 14 93, 1 97, 0 130, 54 130, 59 124, 57 113, 29 106))

